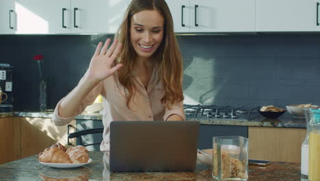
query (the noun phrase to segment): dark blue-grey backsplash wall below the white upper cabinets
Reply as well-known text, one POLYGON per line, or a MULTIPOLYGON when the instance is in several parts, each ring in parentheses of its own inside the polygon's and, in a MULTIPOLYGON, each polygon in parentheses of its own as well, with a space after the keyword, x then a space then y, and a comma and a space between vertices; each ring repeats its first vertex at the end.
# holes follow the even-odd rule
MULTIPOLYGON (((1 61, 14 67, 14 110, 38 110, 44 56, 47 104, 55 108, 111 35, 2 35, 1 61)), ((177 36, 184 58, 185 104, 320 104, 320 35, 177 36)))

